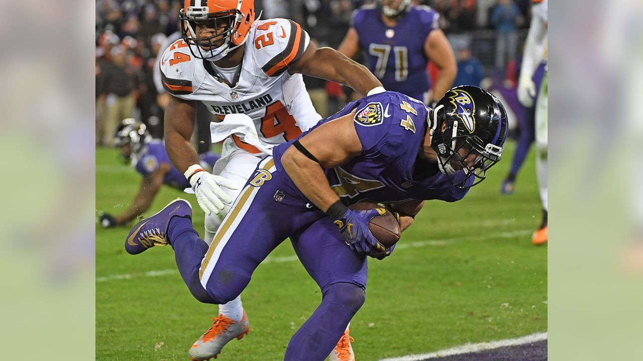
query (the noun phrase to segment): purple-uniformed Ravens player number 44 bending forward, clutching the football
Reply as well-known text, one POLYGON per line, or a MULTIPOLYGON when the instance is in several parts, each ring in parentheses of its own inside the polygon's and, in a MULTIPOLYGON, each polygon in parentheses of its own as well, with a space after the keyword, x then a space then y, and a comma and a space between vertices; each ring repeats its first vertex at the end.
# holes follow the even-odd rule
POLYGON ((212 245, 199 238, 190 205, 178 199, 134 226, 125 249, 139 254, 169 243, 192 295, 217 304, 237 297, 290 238, 323 297, 284 360, 321 361, 365 301, 367 256, 382 260, 394 249, 374 238, 370 220, 393 212, 404 230, 424 200, 462 199, 500 161, 506 136, 503 105, 478 87, 451 89, 435 109, 399 92, 367 96, 275 146, 212 245), (389 206, 348 208, 365 199, 389 206))

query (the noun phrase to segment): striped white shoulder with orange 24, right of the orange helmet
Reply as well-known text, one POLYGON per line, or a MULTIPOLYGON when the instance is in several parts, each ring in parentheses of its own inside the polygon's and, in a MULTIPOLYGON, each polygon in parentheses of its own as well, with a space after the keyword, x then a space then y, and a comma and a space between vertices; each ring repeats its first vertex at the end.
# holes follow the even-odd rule
POLYGON ((250 44, 258 66, 267 76, 279 76, 302 58, 310 37, 302 27, 287 19, 269 19, 253 24, 250 44))

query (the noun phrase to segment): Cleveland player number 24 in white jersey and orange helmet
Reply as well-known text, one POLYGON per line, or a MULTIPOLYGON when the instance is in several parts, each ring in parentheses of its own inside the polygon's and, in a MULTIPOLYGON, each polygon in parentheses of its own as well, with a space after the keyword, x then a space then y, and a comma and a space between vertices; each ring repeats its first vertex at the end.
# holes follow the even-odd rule
MULTIPOLYGON (((334 49, 317 48, 296 22, 255 17, 252 0, 185 0, 182 39, 170 45, 159 64, 163 86, 173 95, 165 110, 167 152, 206 213, 208 244, 264 154, 230 133, 213 172, 203 170, 190 144, 197 101, 221 119, 213 123, 213 132, 235 117, 226 123, 226 115, 245 114, 261 146, 269 148, 294 139, 321 119, 302 74, 347 84, 363 95, 384 91, 366 67, 334 49)), ((192 360, 215 357, 228 341, 249 330, 239 297, 220 305, 213 320, 190 349, 192 360)), ((348 329, 344 336, 341 340, 350 339, 348 329)), ((350 342, 341 340, 331 359, 354 360, 350 342)))

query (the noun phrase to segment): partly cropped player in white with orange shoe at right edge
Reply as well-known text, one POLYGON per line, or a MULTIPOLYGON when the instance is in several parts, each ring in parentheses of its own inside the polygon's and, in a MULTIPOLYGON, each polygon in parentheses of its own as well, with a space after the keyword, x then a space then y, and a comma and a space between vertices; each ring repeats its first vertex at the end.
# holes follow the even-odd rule
MULTIPOLYGON (((518 79, 518 100, 525 107, 534 105, 536 84, 532 80, 541 62, 547 61, 547 0, 532 0, 532 18, 518 79)), ((547 67, 536 102, 536 175, 543 220, 532 236, 534 245, 547 242, 547 67)))

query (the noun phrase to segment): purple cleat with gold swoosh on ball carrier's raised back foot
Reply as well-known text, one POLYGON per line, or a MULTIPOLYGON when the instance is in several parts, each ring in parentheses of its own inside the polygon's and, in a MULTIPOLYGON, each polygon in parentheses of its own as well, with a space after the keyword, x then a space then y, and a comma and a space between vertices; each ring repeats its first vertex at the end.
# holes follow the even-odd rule
POLYGON ((139 254, 146 249, 168 244, 167 228, 174 217, 192 219, 192 206, 187 200, 176 198, 161 209, 156 215, 138 222, 127 234, 125 251, 129 254, 139 254))

